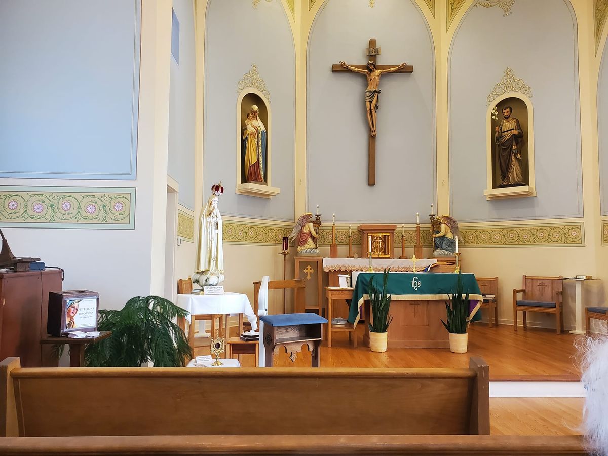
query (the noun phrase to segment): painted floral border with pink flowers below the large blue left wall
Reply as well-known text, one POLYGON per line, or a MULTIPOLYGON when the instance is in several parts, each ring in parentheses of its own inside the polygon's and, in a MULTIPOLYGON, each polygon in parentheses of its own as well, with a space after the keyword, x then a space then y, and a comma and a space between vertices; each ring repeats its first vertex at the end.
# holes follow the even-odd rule
POLYGON ((0 226, 134 229, 135 188, 0 187, 0 226))

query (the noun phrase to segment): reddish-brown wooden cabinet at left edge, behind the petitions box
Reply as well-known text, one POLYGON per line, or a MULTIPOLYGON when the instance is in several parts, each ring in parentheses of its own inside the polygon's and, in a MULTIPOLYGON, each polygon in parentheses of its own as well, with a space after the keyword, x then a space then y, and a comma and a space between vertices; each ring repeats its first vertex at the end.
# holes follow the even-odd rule
POLYGON ((61 291, 61 271, 0 273, 0 360, 21 358, 23 367, 57 366, 46 336, 49 291, 61 291))

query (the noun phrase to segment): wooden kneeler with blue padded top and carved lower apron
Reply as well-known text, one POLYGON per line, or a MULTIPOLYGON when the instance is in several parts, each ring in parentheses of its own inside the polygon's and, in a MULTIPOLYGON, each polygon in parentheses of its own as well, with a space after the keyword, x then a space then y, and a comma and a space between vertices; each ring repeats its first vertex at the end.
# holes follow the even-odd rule
POLYGON ((264 367, 272 367, 272 355, 285 347, 291 361, 308 345, 311 351, 311 367, 320 365, 320 348, 323 340, 323 323, 327 320, 316 313, 266 315, 260 317, 264 322, 264 334, 260 334, 264 344, 264 367))

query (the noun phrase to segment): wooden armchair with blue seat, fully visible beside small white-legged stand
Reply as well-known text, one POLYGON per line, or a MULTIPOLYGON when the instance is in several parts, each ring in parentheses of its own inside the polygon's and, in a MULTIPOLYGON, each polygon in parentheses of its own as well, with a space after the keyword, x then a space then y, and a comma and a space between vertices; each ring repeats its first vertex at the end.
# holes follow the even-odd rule
POLYGON ((564 330, 564 312, 562 296, 562 276, 536 277, 523 276, 523 288, 513 290, 513 330, 517 331, 517 311, 523 313, 523 329, 528 328, 526 312, 543 312, 555 314, 555 326, 558 334, 564 330), (522 299, 517 294, 522 293, 522 299))

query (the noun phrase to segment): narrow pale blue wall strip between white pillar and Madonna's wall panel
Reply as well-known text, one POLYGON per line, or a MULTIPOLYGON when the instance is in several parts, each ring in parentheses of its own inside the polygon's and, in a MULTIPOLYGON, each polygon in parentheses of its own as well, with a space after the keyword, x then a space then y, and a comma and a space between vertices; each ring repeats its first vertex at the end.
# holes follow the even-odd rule
POLYGON ((195 34, 192 0, 173 0, 179 21, 179 64, 171 57, 167 171, 179 184, 179 202, 194 210, 195 34))

